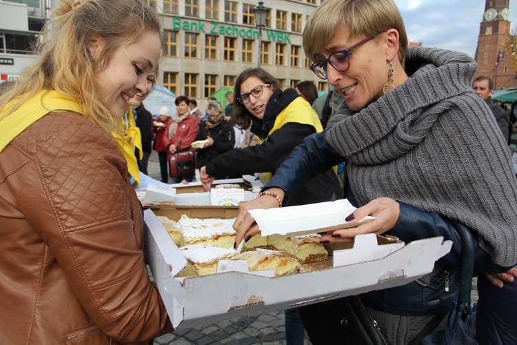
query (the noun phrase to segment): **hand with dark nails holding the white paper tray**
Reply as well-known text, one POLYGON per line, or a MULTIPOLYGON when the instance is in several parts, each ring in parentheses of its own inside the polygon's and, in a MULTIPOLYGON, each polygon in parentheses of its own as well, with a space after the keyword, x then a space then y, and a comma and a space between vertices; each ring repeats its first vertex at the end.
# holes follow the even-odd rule
POLYGON ((321 237, 321 241, 328 242, 352 242, 356 235, 374 233, 381 235, 387 230, 394 228, 401 214, 401 206, 398 202, 389 197, 380 197, 370 201, 363 207, 347 217, 347 221, 361 220, 367 215, 371 215, 375 219, 367 221, 365 224, 356 226, 355 228, 347 228, 335 230, 333 233, 327 233, 321 237))

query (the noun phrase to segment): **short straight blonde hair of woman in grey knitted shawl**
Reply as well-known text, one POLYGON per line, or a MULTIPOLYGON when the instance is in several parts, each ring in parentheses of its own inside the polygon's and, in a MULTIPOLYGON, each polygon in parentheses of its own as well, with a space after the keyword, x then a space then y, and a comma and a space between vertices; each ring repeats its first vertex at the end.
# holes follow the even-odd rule
POLYGON ((407 34, 401 12, 393 0, 325 0, 311 14, 303 30, 303 50, 312 61, 321 52, 336 28, 346 26, 350 36, 376 36, 389 29, 398 31, 398 60, 402 66, 407 53, 407 34))

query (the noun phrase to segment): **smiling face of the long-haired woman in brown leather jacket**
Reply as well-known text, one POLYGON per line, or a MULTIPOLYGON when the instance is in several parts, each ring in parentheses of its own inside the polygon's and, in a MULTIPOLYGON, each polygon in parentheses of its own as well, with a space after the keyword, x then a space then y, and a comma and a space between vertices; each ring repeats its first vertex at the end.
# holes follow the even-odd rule
MULTIPOLYGON (((94 61, 98 59, 103 46, 102 38, 89 45, 94 61)), ((139 97, 142 101, 148 95, 160 52, 158 32, 145 30, 135 42, 117 48, 107 66, 96 71, 99 98, 114 117, 122 117, 133 97, 139 97)))

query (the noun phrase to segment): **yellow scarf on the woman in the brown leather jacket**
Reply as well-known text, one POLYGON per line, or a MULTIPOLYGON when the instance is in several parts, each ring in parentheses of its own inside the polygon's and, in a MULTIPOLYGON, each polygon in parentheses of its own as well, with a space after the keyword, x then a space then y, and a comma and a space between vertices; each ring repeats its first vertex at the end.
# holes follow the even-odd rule
MULTIPOLYGON (((17 110, 7 116, 17 101, 17 99, 14 99, 7 103, 0 113, 0 152, 23 130, 26 130, 49 112, 68 110, 83 114, 83 107, 76 100, 55 90, 41 90, 37 92, 36 95, 25 101, 17 110)), ((128 161, 128 170, 131 176, 140 183, 140 173, 136 164, 136 157, 134 157, 133 146, 126 142, 126 140, 130 140, 132 137, 129 135, 122 137, 114 132, 111 135, 116 145, 122 151, 125 160, 128 161)))

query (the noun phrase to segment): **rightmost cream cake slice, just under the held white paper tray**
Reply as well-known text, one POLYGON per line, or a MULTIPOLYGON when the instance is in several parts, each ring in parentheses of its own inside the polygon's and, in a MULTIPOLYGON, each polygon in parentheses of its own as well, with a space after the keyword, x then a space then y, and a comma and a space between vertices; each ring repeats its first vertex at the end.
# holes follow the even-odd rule
POLYGON ((320 243, 321 236, 308 234, 294 237, 267 236, 267 243, 276 250, 296 257, 302 264, 318 262, 327 259, 328 252, 320 243))

